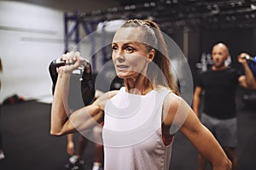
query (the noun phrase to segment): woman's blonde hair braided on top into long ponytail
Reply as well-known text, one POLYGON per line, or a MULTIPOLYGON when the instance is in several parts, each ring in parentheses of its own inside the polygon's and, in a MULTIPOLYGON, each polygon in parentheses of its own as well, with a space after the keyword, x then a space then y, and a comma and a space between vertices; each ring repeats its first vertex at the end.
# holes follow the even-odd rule
POLYGON ((143 30, 143 35, 140 38, 142 38, 143 42, 147 42, 145 45, 148 47, 148 50, 154 48, 156 51, 153 59, 154 64, 148 65, 148 79, 154 86, 165 86, 170 88, 173 93, 179 95, 177 82, 171 71, 171 61, 169 59, 167 45, 160 31, 160 27, 154 21, 137 19, 128 20, 121 27, 139 27, 143 30))

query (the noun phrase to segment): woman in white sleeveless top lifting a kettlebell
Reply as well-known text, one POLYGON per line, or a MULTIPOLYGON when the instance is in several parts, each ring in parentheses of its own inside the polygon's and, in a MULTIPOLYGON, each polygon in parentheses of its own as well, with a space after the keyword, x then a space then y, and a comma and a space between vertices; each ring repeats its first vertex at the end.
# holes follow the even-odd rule
POLYGON ((149 20, 128 20, 115 33, 113 64, 125 87, 110 91, 68 116, 70 74, 83 65, 79 53, 63 54, 51 111, 51 134, 84 130, 104 120, 104 169, 169 169, 174 133, 180 130, 212 163, 230 169, 224 150, 178 96, 160 28, 149 20), (75 63, 74 63, 75 62, 75 63), (74 64, 73 64, 74 63, 74 64))

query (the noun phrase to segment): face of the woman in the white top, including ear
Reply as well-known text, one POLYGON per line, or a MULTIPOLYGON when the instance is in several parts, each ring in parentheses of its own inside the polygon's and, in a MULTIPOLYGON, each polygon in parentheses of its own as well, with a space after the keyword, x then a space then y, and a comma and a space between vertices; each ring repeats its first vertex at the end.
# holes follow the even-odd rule
POLYGON ((136 78, 140 73, 146 75, 148 61, 154 58, 154 49, 148 51, 142 40, 139 28, 121 28, 113 37, 112 59, 117 76, 136 78))

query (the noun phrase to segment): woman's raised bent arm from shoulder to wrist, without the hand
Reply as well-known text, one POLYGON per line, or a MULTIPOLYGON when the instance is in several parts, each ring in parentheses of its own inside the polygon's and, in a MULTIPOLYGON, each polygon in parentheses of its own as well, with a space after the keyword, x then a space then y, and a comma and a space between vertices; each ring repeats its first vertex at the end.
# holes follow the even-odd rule
MULTIPOLYGON (((102 94, 91 105, 87 105, 77 111, 73 111, 70 116, 67 116, 67 108, 65 109, 64 102, 67 97, 64 97, 61 90, 61 76, 58 77, 53 104, 51 108, 51 128, 50 133, 55 136, 61 136, 67 133, 81 132, 98 123, 103 122, 104 107, 109 99, 111 99, 118 91, 109 91, 102 94)), ((66 82, 66 81, 64 81, 66 82)))

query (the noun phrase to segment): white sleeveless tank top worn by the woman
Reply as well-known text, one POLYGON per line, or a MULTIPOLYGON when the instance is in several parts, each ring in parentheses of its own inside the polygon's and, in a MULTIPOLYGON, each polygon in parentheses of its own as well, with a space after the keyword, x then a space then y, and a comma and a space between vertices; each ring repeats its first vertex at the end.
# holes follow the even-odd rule
POLYGON ((146 95, 128 94, 125 88, 105 106, 105 170, 168 170, 172 143, 162 140, 163 101, 170 90, 158 88, 146 95))

